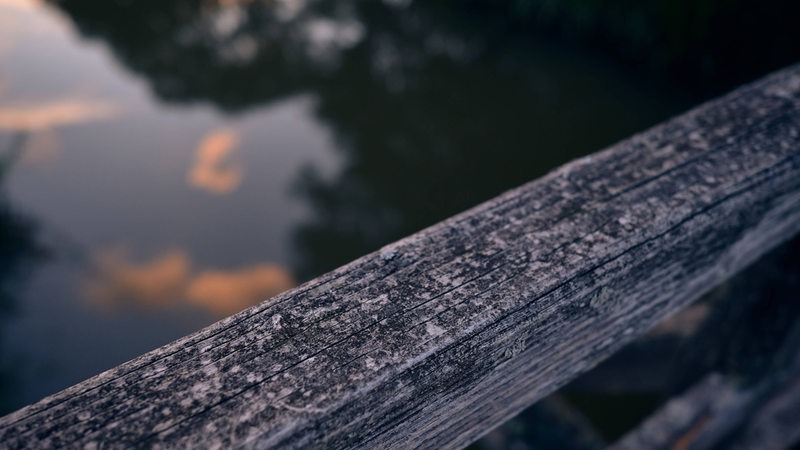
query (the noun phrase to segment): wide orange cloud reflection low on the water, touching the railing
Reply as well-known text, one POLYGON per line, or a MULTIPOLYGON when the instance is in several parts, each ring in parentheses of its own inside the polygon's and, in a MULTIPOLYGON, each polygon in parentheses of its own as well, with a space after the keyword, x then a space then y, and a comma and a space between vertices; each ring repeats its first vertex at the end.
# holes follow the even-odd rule
POLYGON ((221 318, 296 285, 288 270, 274 264, 194 272, 189 256, 177 249, 143 263, 133 261, 124 248, 104 249, 94 255, 93 262, 93 273, 83 280, 82 292, 103 311, 190 304, 221 318))

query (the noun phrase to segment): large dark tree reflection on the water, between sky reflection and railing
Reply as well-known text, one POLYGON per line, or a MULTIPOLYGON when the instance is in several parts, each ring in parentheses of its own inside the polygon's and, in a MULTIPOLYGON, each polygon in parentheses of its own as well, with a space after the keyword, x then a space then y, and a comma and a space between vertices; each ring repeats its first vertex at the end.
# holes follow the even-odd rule
MULTIPOLYGON (((402 0, 53 4, 82 34, 105 41, 163 100, 240 112, 299 92, 316 97, 317 114, 336 134, 346 163, 334 178, 313 167, 298 177, 296 192, 314 210, 296 230, 294 272, 302 279, 687 106, 674 91, 644 86, 591 57, 517 39, 509 30, 530 23, 539 6, 511 3, 528 7, 402 0)), ((558 13, 570 15, 572 3, 558 13)), ((640 10, 661 17, 659 5, 640 10)), ((607 17, 596 11, 597 23, 607 17)), ((685 31, 668 17, 648 26, 685 31)))

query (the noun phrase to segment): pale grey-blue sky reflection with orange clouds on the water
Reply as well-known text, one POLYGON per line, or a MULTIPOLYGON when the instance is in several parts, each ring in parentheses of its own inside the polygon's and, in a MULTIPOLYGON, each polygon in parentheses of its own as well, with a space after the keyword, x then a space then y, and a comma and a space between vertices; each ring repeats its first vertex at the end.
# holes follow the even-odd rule
POLYGON ((293 287, 296 174, 341 164, 315 106, 170 107, 52 5, 0 0, 0 413, 293 287))

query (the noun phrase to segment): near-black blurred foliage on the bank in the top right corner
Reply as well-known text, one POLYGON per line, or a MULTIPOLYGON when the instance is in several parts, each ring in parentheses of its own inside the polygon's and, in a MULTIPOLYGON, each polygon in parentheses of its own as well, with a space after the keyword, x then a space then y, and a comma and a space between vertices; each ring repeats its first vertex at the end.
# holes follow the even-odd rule
POLYGON ((468 0, 534 34, 615 55, 706 95, 800 59, 794 0, 468 0))

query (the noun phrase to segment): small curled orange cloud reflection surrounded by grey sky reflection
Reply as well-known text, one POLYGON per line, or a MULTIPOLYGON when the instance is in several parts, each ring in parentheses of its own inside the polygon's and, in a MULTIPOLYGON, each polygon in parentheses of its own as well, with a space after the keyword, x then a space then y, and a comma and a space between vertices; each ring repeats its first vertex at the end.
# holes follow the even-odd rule
POLYGON ((239 135, 232 130, 217 130, 203 138, 187 175, 189 185, 217 195, 234 191, 244 176, 244 169, 229 161, 238 143, 239 135))

